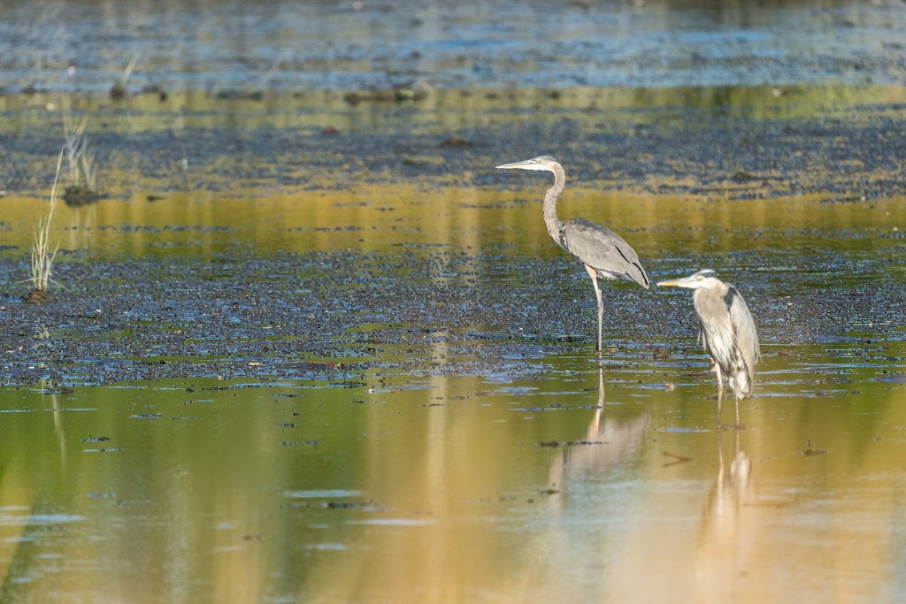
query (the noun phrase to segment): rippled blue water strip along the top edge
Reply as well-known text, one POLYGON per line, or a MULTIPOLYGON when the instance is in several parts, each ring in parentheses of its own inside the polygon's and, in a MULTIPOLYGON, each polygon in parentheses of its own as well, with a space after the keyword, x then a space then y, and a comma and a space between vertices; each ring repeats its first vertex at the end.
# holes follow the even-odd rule
POLYGON ((904 69, 897 2, 164 6, 5 3, 0 87, 107 91, 133 57, 130 87, 167 91, 858 84, 904 69))

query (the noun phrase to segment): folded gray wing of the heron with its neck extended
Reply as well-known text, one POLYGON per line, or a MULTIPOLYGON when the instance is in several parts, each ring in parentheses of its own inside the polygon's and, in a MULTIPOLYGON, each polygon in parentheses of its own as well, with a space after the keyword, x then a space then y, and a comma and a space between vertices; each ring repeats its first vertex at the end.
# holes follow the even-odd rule
POLYGON ((559 243, 564 250, 599 272, 629 279, 648 289, 648 274, 641 267, 639 254, 606 226, 573 218, 560 227, 559 243))

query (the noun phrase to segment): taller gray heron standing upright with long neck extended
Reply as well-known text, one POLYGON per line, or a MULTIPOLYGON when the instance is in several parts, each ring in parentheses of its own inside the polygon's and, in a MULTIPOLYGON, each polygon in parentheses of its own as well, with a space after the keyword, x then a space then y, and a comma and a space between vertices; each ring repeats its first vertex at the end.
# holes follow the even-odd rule
POLYGON ((648 275, 639 263, 639 254, 635 253, 620 235, 606 226, 596 225, 591 220, 573 218, 560 222, 557 218, 557 197, 566 185, 566 173, 556 159, 549 155, 516 161, 512 164, 497 166, 500 169, 545 170, 554 172, 554 187, 545 193, 545 225, 547 232, 560 247, 578 258, 588 271, 594 285, 594 297, 598 302, 598 348, 601 352, 601 331, 604 305, 601 301, 601 288, 598 277, 609 281, 625 279, 639 283, 646 290, 649 287, 648 275))

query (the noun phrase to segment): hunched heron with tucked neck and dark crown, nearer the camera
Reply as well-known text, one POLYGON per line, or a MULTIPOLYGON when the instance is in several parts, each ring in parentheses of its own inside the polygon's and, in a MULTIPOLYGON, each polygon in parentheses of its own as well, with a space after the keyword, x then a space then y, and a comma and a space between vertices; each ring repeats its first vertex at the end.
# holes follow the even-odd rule
POLYGON ((723 395, 722 373, 728 375, 736 398, 737 426, 739 399, 752 393, 755 365, 761 350, 755 321, 742 294, 730 283, 718 279, 718 273, 704 269, 682 279, 661 281, 660 287, 685 287, 692 292, 692 304, 701 321, 701 342, 714 360, 718 374, 718 426, 720 398, 723 395))

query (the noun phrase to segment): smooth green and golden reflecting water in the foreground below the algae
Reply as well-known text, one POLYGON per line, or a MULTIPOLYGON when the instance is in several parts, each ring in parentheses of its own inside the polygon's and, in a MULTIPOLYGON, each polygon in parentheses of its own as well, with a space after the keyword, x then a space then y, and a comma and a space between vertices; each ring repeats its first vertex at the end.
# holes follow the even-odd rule
POLYGON ((718 432, 704 370, 670 390, 648 363, 538 362, 373 392, 5 389, 32 410, 0 424, 3 599, 902 597, 902 384, 816 398, 768 356, 718 432))

